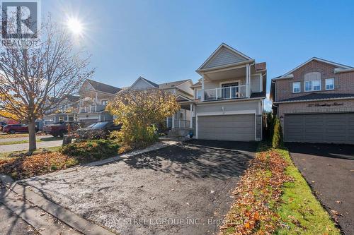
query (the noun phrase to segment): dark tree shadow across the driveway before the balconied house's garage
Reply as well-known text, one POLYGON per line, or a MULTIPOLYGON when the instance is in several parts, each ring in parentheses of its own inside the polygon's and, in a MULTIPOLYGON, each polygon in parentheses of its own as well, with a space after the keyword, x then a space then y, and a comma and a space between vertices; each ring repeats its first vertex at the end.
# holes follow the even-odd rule
POLYGON ((241 176, 248 167, 256 147, 252 149, 249 146, 248 149, 251 151, 181 143, 128 157, 123 161, 132 169, 152 169, 181 178, 228 179, 241 176))

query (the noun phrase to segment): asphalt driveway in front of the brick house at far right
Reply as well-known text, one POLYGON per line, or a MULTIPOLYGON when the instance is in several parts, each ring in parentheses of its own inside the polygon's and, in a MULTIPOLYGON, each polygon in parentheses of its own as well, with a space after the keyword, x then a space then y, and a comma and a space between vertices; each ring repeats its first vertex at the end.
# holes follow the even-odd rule
POLYGON ((295 165, 327 210, 336 210, 346 234, 354 234, 354 145, 289 143, 295 165))

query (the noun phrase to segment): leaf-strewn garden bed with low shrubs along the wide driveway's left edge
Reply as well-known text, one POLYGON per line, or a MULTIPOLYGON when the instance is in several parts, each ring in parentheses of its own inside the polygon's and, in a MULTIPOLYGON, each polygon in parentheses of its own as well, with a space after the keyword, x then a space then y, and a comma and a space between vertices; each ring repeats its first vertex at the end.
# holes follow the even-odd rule
POLYGON ((0 173, 14 179, 25 179, 113 157, 118 155, 118 150, 119 145, 111 140, 89 140, 51 150, 38 150, 30 156, 25 152, 4 153, 0 155, 0 173))

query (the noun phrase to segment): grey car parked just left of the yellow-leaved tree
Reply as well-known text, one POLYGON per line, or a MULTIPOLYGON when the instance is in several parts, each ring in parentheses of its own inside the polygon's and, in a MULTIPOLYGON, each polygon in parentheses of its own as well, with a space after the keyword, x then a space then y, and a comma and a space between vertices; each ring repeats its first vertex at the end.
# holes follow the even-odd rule
POLYGON ((76 135, 80 139, 99 139, 107 138, 111 131, 119 131, 121 126, 116 126, 110 121, 102 121, 91 124, 87 128, 80 128, 76 131, 76 135))

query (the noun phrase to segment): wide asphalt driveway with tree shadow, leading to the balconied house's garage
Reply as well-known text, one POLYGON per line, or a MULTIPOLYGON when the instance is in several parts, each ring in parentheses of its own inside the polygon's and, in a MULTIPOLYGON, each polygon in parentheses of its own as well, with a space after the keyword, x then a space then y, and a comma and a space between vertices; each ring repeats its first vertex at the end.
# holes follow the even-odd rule
POLYGON ((120 234, 216 234, 256 146, 195 140, 27 182, 120 234))

